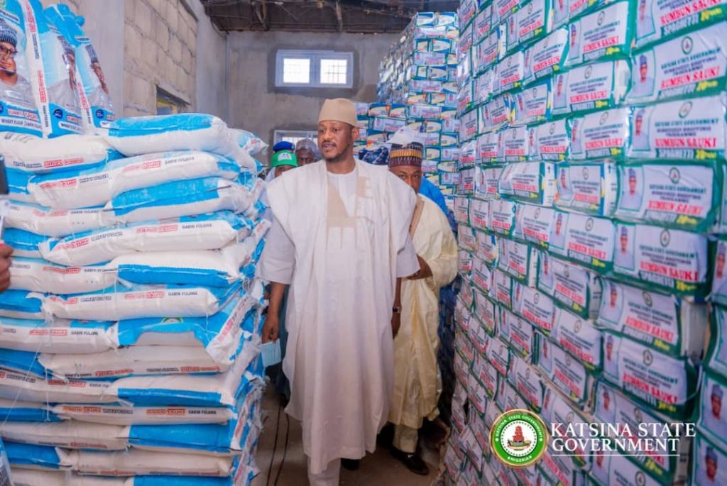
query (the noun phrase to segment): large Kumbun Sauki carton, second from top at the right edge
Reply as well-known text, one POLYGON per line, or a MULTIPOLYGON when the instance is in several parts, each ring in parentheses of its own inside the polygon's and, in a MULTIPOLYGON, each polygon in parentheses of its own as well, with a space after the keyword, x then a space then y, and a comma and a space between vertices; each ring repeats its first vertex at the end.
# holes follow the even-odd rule
POLYGON ((727 22, 634 54, 630 103, 718 94, 727 89, 727 22))

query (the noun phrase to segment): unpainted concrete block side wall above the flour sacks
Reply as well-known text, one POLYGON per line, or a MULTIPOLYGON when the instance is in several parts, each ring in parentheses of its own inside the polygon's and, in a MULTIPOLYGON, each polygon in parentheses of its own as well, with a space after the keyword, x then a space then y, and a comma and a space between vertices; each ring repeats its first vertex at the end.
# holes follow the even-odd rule
POLYGON ((200 0, 61 1, 86 17, 117 113, 156 113, 158 87, 188 111, 224 118, 226 36, 200 0))

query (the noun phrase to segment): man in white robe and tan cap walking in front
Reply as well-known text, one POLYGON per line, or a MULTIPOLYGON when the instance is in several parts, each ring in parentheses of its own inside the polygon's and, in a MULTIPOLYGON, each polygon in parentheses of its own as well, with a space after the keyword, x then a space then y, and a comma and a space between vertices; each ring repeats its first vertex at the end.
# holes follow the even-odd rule
POLYGON ((401 278, 419 270, 409 224, 416 195, 386 168, 353 158, 356 108, 326 100, 318 118, 325 163, 268 186, 273 226, 260 262, 271 283, 263 342, 277 339, 289 285, 286 413, 302 422, 311 485, 337 485, 340 458, 376 447, 393 392, 401 278))

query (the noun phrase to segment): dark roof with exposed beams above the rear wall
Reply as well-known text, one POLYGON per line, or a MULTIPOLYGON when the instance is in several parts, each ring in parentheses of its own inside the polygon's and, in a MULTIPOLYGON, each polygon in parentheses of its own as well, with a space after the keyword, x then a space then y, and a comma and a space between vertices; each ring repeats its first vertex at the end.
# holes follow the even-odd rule
POLYGON ((454 12, 459 0, 201 0, 222 31, 401 32, 416 12, 454 12))

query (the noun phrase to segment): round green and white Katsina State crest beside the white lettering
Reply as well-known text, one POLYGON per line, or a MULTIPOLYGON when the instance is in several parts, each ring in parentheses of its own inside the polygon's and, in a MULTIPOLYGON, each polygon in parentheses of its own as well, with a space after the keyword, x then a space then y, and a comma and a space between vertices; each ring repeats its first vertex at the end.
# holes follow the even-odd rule
POLYGON ((530 410, 509 410, 492 424, 490 447, 505 466, 531 466, 545 454, 547 443, 545 422, 530 410))

